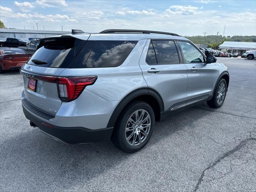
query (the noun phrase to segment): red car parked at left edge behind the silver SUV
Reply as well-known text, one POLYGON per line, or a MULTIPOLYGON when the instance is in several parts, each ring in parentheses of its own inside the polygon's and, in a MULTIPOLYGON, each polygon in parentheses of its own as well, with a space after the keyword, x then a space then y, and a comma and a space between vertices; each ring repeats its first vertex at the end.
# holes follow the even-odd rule
POLYGON ((20 69, 31 56, 20 48, 0 48, 0 73, 3 73, 4 70, 20 69))

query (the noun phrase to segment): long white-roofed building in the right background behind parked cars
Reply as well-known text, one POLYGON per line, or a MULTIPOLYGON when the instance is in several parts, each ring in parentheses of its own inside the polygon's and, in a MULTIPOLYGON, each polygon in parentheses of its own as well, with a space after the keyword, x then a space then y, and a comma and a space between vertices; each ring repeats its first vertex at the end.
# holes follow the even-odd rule
POLYGON ((220 50, 228 51, 233 53, 242 54, 247 50, 256 50, 256 42, 234 42, 234 41, 224 41, 220 46, 220 50))

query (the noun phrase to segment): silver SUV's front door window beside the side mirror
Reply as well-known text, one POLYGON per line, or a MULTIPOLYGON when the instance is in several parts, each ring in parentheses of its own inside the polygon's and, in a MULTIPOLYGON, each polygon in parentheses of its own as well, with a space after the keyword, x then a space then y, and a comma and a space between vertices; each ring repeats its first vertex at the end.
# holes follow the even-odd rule
POLYGON ((180 41, 180 47, 186 63, 204 62, 203 55, 189 42, 180 41))

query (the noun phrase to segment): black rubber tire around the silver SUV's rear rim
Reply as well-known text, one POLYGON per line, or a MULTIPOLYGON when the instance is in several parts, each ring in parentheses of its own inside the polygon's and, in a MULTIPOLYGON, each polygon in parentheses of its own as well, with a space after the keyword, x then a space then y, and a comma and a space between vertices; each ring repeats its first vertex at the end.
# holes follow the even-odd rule
MULTIPOLYGON (((142 149, 147 144, 147 142, 150 140, 150 137, 152 136, 152 132, 154 130, 154 124, 155 124, 154 111, 148 103, 140 101, 140 100, 131 102, 130 104, 128 104, 126 106, 126 108, 120 114, 120 116, 114 126, 111 140, 112 140, 113 144, 120 150, 127 152, 127 153, 134 153, 134 152, 142 149), (142 139, 142 142, 140 144, 137 142, 136 146, 132 146, 131 144, 128 143, 129 141, 126 141, 126 136, 127 136, 126 134, 130 134, 130 132, 131 132, 130 135, 134 134, 134 137, 135 137, 136 136, 136 134, 135 134, 136 128, 132 128, 132 130, 130 132, 126 132, 126 125, 128 124, 128 119, 130 118, 130 116, 137 110, 145 110, 149 114, 151 125, 150 125, 150 129, 148 131, 148 134, 144 138, 144 140, 142 139)), ((140 132, 139 134, 140 134, 140 138, 142 138, 143 137, 142 132, 140 132)))

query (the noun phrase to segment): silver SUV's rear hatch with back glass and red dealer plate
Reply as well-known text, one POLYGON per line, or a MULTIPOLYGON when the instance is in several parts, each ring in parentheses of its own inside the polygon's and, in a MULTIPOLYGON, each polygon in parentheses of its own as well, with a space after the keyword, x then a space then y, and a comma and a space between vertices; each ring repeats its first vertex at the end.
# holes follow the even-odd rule
MULTIPOLYGON (((35 109, 39 116, 42 113, 52 117, 56 115, 63 100, 56 84, 57 77, 76 58, 89 36, 90 34, 83 34, 80 39, 65 35, 40 40, 38 49, 20 71, 24 80, 23 104, 35 109)), ((60 80, 63 78, 58 79, 59 82, 60 80)), ((78 86, 78 90, 82 88, 78 86)))

